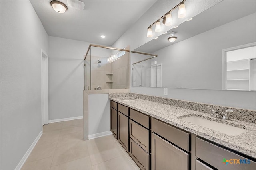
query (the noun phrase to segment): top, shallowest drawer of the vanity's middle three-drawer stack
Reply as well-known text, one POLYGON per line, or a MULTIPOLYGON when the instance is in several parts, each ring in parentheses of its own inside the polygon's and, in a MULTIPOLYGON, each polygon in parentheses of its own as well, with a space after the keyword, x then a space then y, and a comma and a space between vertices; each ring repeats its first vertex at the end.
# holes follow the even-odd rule
POLYGON ((134 109, 130 109, 130 119, 138 122, 142 126, 149 129, 149 116, 144 115, 143 113, 140 113, 134 109))

